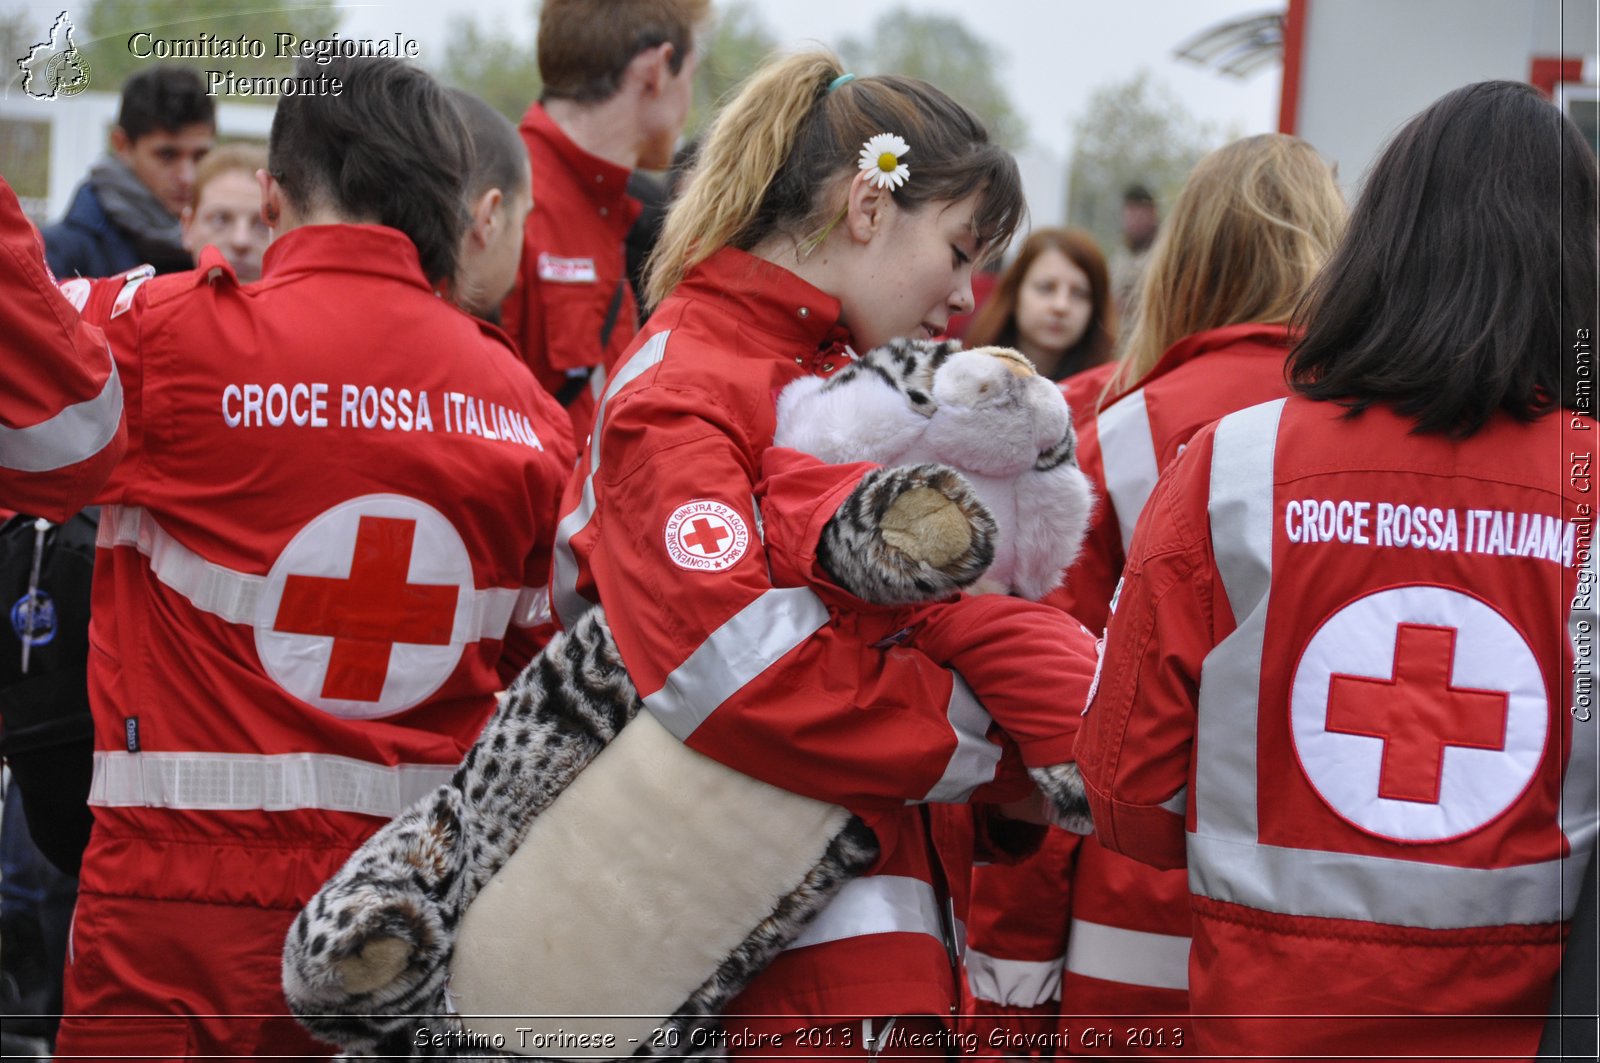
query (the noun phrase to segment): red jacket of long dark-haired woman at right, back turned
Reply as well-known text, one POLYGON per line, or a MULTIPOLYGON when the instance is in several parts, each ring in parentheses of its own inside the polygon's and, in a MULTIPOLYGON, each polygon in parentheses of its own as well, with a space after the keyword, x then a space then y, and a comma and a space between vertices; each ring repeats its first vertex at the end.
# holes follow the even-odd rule
POLYGON ((1530 1058, 1597 826, 1595 423, 1344 413, 1163 475, 1078 740, 1099 839, 1189 868, 1200 1052, 1530 1058))

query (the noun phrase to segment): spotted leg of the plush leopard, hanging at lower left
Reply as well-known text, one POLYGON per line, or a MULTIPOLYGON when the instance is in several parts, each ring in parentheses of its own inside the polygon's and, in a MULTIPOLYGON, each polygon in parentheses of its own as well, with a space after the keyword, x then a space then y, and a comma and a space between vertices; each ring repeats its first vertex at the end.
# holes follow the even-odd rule
POLYGON ((410 1049, 418 1017, 459 1029, 445 980, 461 916, 640 704, 598 608, 557 636, 451 781, 368 839, 296 917, 283 988, 301 1023, 381 1055, 429 1055, 410 1049))

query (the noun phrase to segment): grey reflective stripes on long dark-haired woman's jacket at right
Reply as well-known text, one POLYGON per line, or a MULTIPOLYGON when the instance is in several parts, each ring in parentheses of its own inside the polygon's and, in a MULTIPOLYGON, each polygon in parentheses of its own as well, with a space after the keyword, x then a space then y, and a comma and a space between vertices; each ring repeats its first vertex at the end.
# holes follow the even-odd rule
POLYGON ((1592 727, 1579 728, 1563 778, 1562 829, 1573 847, 1570 860, 1456 868, 1261 844, 1258 722, 1272 589, 1274 458, 1283 407, 1278 399, 1242 410, 1216 431, 1211 543, 1237 628, 1206 655, 1200 671, 1195 829, 1187 839, 1190 892, 1286 916, 1405 927, 1493 927, 1570 917, 1597 828, 1600 757, 1592 727))

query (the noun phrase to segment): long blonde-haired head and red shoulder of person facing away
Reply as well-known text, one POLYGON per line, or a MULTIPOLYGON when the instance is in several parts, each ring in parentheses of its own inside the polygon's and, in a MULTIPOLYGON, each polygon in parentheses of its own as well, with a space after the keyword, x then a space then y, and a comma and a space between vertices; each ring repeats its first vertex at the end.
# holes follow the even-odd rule
POLYGON ((1306 141, 1250 136, 1200 160, 1162 226, 1139 319, 1082 432, 1104 509, 1062 602, 1106 623, 1155 475, 1224 413, 1286 394, 1290 319, 1344 234, 1344 195, 1306 141))

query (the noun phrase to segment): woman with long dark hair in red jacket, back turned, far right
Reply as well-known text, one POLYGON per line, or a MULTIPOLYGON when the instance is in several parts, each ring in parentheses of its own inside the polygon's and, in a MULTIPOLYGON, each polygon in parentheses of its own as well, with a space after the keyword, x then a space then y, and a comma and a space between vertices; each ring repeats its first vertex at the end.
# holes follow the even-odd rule
POLYGON ((1077 752, 1099 844, 1187 868, 1200 1055, 1534 1057, 1600 826, 1597 189, 1530 85, 1411 118, 1294 394, 1139 517, 1077 752))

